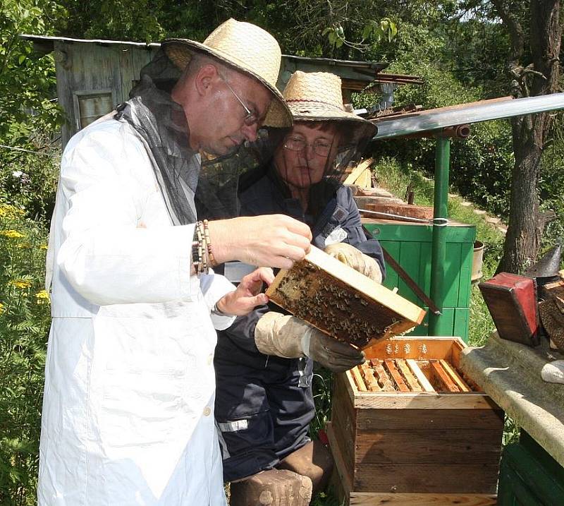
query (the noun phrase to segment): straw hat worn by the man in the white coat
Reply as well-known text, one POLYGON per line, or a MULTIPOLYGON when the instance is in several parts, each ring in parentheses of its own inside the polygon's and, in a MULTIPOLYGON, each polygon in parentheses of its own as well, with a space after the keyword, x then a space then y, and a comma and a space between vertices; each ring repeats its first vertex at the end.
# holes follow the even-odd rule
POLYGON ((162 47, 168 58, 181 70, 188 65, 194 52, 201 52, 257 79, 274 97, 264 125, 292 126, 292 116, 276 88, 282 53, 278 42, 269 32, 231 18, 219 25, 202 43, 168 39, 162 43, 162 47))

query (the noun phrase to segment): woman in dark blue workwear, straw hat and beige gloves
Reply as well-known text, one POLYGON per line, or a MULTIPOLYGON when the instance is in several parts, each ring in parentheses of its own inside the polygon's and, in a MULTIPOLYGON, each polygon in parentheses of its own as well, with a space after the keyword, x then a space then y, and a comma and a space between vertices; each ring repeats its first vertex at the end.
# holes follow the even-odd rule
MULTIPOLYGON (((294 126, 278 133, 266 169, 243 183, 241 214, 300 219, 311 227, 315 246, 381 282, 379 243, 367 240, 350 188, 342 185, 346 167, 376 128, 344 111, 341 79, 333 74, 298 71, 283 95, 294 126)), ((260 505, 264 493, 276 498, 268 504, 309 504, 332 463, 329 451, 307 436, 313 361, 343 372, 363 359, 280 308, 256 308, 221 332, 215 413, 232 506, 260 505)))

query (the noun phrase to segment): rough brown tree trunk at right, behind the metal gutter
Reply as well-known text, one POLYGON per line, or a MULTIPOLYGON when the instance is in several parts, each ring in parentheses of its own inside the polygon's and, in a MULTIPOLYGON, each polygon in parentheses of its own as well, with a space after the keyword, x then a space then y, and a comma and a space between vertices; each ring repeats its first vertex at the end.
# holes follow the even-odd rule
MULTIPOLYGON (((498 10, 500 6, 503 8, 503 2, 498 0, 495 3, 498 10)), ((518 66, 515 52, 510 58, 513 67, 511 72, 518 80, 517 96, 548 95, 556 91, 562 36, 559 13, 560 0, 530 1, 529 47, 532 66, 518 66)), ((501 17, 504 23, 506 19, 511 21, 503 15, 501 17)), ((509 29, 509 32, 513 38, 515 28, 509 29)), ((515 44, 512 47, 515 48, 515 44)), ((539 212, 538 183, 541 155, 552 119, 550 114, 542 113, 519 116, 511 124, 515 165, 511 181, 509 226, 498 272, 521 272, 533 263, 539 253, 544 229, 539 212)))

